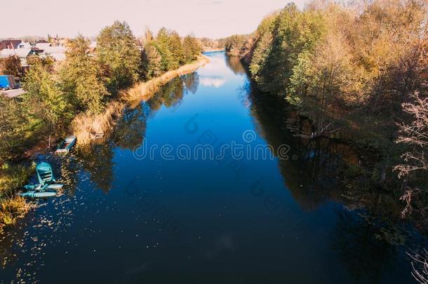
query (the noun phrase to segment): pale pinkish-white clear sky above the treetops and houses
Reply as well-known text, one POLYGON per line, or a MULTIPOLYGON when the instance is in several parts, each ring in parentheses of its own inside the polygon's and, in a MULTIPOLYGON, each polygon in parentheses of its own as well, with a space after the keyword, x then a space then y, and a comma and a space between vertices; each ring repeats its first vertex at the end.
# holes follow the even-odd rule
MULTIPOLYGON (((295 0, 302 7, 303 1, 295 0)), ((0 38, 96 36, 114 20, 126 21, 136 36, 145 27, 175 29, 182 36, 213 39, 253 32, 262 18, 290 0, 20 0, 2 1, 0 38)))

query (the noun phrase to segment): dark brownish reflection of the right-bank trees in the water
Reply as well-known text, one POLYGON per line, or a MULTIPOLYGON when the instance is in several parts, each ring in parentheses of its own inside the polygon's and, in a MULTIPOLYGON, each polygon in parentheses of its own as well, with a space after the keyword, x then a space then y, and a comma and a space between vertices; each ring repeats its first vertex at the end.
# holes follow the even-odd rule
POLYGON ((279 168, 286 187, 302 208, 314 210, 333 200, 399 220, 399 197, 377 187, 373 182, 373 166, 354 147, 340 140, 310 139, 307 133, 311 133, 311 126, 285 103, 257 90, 248 89, 248 92, 251 114, 260 135, 275 153, 281 144, 290 147, 290 158, 280 160, 279 168))

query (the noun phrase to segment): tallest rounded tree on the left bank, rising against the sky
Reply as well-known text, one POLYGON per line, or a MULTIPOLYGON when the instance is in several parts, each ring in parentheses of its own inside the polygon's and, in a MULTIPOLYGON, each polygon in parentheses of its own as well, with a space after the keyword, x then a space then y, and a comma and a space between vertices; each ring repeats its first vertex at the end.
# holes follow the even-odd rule
POLYGON ((114 22, 102 29, 97 37, 97 55, 110 72, 109 86, 116 92, 138 81, 140 50, 135 36, 126 22, 114 22))

